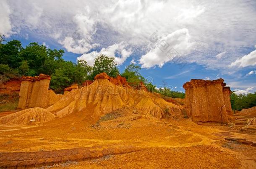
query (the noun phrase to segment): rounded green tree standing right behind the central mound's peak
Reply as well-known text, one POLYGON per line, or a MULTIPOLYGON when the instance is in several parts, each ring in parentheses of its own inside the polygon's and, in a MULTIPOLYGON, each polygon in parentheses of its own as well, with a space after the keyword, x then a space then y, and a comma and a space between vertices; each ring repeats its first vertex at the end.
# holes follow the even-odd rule
POLYGON ((115 58, 100 54, 95 58, 94 66, 92 68, 91 79, 99 73, 107 73, 108 76, 116 77, 119 74, 115 58))

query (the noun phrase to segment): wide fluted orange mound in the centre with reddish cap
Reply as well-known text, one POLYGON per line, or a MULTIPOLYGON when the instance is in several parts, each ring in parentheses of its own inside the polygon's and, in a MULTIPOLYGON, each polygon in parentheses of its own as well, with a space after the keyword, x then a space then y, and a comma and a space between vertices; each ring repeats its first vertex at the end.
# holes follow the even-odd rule
POLYGON ((57 117, 83 112, 91 118, 98 118, 123 106, 131 106, 142 114, 157 119, 161 119, 164 112, 173 116, 181 115, 179 106, 168 103, 153 93, 127 87, 126 80, 123 82, 120 80, 121 83, 118 82, 119 85, 116 85, 116 81, 113 83, 113 79, 106 73, 100 73, 94 79, 95 81, 89 86, 72 90, 64 95, 47 108, 47 111, 57 117))

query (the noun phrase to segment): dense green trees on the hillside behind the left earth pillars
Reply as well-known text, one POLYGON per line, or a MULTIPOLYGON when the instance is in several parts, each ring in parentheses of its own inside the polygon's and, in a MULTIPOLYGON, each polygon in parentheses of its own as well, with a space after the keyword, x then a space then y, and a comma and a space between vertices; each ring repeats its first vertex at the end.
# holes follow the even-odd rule
POLYGON ((3 82, 44 73, 52 76, 50 88, 62 92, 72 83, 84 82, 91 73, 92 68, 85 61, 64 61, 62 49, 52 50, 38 43, 29 43, 23 48, 19 40, 5 44, 3 41, 3 36, 0 36, 0 78, 3 82))

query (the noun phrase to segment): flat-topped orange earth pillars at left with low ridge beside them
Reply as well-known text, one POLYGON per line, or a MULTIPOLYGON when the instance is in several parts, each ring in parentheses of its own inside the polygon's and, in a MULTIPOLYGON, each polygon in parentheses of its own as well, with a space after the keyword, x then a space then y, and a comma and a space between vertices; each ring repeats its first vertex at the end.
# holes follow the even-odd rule
POLYGON ((17 109, 46 108, 58 101, 63 95, 55 94, 49 90, 50 80, 51 77, 44 74, 35 77, 23 76, 17 109))

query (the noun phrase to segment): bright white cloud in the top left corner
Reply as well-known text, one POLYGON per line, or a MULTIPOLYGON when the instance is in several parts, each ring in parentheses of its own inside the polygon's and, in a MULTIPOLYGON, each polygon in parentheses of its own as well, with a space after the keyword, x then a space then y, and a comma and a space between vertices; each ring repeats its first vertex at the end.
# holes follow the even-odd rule
POLYGON ((4 34, 7 37, 11 31, 11 23, 10 23, 10 6, 8 5, 6 0, 1 0, 0 2, 0 34, 4 34))

